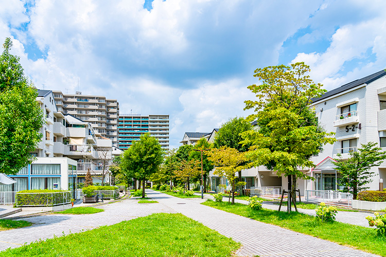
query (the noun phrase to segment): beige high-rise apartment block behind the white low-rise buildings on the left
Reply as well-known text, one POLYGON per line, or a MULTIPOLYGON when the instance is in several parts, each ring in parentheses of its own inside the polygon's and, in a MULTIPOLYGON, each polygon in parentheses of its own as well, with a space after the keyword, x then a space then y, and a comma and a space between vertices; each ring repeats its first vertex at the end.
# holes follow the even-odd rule
POLYGON ((117 117, 119 104, 116 99, 106 99, 104 96, 75 95, 52 91, 58 112, 71 114, 74 117, 89 122, 102 137, 111 139, 117 145, 117 117))

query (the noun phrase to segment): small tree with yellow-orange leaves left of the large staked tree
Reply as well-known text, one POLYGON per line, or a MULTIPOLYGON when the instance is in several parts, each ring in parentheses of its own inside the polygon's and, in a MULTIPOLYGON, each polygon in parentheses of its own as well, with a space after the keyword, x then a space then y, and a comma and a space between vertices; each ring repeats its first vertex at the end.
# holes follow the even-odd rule
POLYGON ((245 152, 239 152, 234 148, 221 146, 219 149, 212 149, 208 152, 208 159, 215 163, 214 175, 226 177, 231 184, 232 204, 235 204, 235 191, 238 177, 237 172, 252 167, 252 163, 248 163, 245 152), (243 165, 241 163, 244 163, 243 165))

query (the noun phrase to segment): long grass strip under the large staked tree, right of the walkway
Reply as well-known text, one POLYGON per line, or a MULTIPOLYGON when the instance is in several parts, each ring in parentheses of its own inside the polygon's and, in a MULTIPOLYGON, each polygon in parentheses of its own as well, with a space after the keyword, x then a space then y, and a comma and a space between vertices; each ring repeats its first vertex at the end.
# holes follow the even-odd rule
POLYGON ((252 218, 256 221, 336 242, 340 245, 352 246, 360 250, 386 256, 386 236, 377 236, 373 228, 340 222, 322 223, 313 216, 294 211, 291 213, 267 209, 253 211, 247 205, 230 205, 227 203, 216 203, 215 201, 206 201, 202 204, 252 218))

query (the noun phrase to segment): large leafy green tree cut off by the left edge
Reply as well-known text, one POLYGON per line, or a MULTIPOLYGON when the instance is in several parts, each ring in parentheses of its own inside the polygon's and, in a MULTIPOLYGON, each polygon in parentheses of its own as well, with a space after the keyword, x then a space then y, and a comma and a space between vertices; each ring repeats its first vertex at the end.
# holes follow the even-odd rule
POLYGON ((43 112, 36 102, 36 88, 24 76, 20 58, 9 53, 10 38, 0 56, 0 173, 16 174, 34 157, 42 138, 43 112))

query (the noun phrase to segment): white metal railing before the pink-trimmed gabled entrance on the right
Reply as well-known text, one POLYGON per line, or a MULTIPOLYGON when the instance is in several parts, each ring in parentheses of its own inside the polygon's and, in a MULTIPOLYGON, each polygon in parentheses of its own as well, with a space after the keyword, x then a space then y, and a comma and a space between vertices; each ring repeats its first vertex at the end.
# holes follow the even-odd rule
POLYGON ((350 193, 334 192, 330 190, 306 190, 306 201, 345 207, 353 206, 353 195, 350 193))

